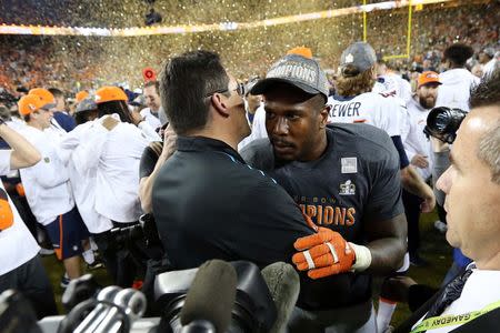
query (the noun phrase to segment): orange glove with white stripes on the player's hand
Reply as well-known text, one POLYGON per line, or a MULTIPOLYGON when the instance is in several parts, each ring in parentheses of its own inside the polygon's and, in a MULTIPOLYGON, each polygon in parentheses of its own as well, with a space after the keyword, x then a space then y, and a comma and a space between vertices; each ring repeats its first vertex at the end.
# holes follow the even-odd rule
POLYGON ((299 271, 311 279, 344 273, 351 270, 356 254, 342 235, 320 226, 318 233, 300 238, 293 244, 300 251, 292 256, 299 271))

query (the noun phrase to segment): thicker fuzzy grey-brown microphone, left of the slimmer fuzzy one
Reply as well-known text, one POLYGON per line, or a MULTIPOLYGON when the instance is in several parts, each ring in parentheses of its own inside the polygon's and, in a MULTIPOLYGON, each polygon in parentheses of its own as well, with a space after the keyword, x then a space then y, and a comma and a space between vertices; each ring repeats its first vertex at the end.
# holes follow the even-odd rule
POLYGON ((202 264, 180 312, 181 332, 226 332, 231 322, 238 276, 233 266, 221 260, 202 264))

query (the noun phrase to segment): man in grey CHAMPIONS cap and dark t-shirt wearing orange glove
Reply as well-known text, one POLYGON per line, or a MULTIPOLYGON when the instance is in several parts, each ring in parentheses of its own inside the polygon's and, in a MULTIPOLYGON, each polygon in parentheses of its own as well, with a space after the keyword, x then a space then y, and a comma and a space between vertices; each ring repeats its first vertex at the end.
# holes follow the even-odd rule
POLYGON ((301 275, 290 331, 376 332, 371 274, 396 271, 406 252, 399 157, 389 135, 374 127, 327 128, 326 82, 313 59, 288 54, 277 61, 251 90, 264 97, 269 139, 250 143, 241 154, 323 228, 321 236, 296 243, 304 251, 293 261, 308 274, 301 275), (346 255, 356 253, 351 266, 340 249, 330 246, 339 238, 348 241, 346 255))

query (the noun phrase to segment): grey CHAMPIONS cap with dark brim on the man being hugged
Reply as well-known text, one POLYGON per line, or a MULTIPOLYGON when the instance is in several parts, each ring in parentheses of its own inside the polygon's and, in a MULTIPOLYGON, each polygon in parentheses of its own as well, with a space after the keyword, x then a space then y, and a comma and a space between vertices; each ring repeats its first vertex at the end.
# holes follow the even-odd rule
POLYGON ((321 93, 328 98, 328 80, 319 63, 300 54, 287 54, 278 60, 250 90, 251 94, 262 94, 271 85, 282 82, 294 85, 310 94, 321 93))

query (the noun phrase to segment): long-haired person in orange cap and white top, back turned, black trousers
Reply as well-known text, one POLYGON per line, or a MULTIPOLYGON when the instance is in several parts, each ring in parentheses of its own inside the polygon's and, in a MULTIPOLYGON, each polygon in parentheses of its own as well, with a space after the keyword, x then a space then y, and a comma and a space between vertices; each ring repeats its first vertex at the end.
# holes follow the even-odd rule
MULTIPOLYGON (((81 174, 94 169, 96 212, 110 220, 114 228, 132 226, 142 214, 139 162, 146 147, 160 137, 137 112, 129 111, 127 94, 120 88, 100 88, 96 91, 96 103, 99 119, 89 122, 83 140, 73 152, 79 161, 76 165, 81 174)), ((111 240, 110 230, 94 234, 93 239, 114 283, 131 286, 140 269, 131 252, 111 240)))

